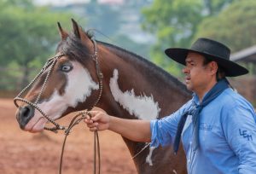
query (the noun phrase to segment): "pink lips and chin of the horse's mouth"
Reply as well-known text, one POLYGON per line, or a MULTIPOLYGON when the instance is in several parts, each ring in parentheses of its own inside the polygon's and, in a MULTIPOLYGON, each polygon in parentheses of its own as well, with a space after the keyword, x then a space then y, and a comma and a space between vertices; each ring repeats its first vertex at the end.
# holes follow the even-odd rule
POLYGON ((44 117, 33 117, 24 127, 24 131, 29 131, 32 133, 44 131, 44 125, 46 124, 46 122, 47 119, 45 119, 44 117))

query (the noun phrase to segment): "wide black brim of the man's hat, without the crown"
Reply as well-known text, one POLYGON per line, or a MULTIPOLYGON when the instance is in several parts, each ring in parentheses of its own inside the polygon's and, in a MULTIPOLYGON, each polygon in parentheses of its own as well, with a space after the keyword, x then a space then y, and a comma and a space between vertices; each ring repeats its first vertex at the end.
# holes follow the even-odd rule
POLYGON ((216 55, 211 55, 207 52, 199 52, 193 49, 171 48, 171 49, 166 49, 165 53, 173 61, 177 61, 180 64, 186 65, 185 60, 190 51, 198 53, 200 55, 204 55, 209 60, 216 61, 218 65, 224 69, 225 75, 227 77, 236 77, 236 76, 241 76, 248 73, 248 70, 245 67, 241 67, 240 65, 238 65, 233 61, 229 61, 227 59, 224 59, 223 57, 218 57, 216 55))

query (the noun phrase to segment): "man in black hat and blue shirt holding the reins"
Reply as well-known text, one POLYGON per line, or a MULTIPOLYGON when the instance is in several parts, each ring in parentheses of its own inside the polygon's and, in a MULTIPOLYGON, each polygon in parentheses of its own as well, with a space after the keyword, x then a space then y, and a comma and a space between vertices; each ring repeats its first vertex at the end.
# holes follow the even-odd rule
POLYGON ((90 111, 90 131, 111 130, 151 146, 173 144, 180 138, 192 174, 256 173, 256 115, 252 105, 230 88, 227 77, 248 73, 230 61, 230 49, 199 38, 191 49, 166 49, 166 55, 185 67, 185 84, 194 92, 183 107, 164 119, 119 119, 90 111))

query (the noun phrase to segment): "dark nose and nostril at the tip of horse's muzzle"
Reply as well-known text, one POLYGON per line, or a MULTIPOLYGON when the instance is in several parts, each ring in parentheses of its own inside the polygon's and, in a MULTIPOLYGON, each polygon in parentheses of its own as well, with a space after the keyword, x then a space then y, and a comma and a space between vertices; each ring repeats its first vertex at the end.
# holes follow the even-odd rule
POLYGON ((34 116, 35 109, 29 105, 24 107, 19 107, 18 112, 16 113, 16 119, 20 125, 20 129, 24 130, 26 124, 34 116))

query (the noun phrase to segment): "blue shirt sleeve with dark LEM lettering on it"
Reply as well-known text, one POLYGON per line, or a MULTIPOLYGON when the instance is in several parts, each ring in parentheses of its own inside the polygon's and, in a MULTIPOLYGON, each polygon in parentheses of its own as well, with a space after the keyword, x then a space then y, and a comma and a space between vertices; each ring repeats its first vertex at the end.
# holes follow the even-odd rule
MULTIPOLYGON (((228 103, 227 103, 228 104, 228 103)), ((239 173, 256 173, 256 116, 249 103, 224 109, 224 136, 239 159, 239 173)))

